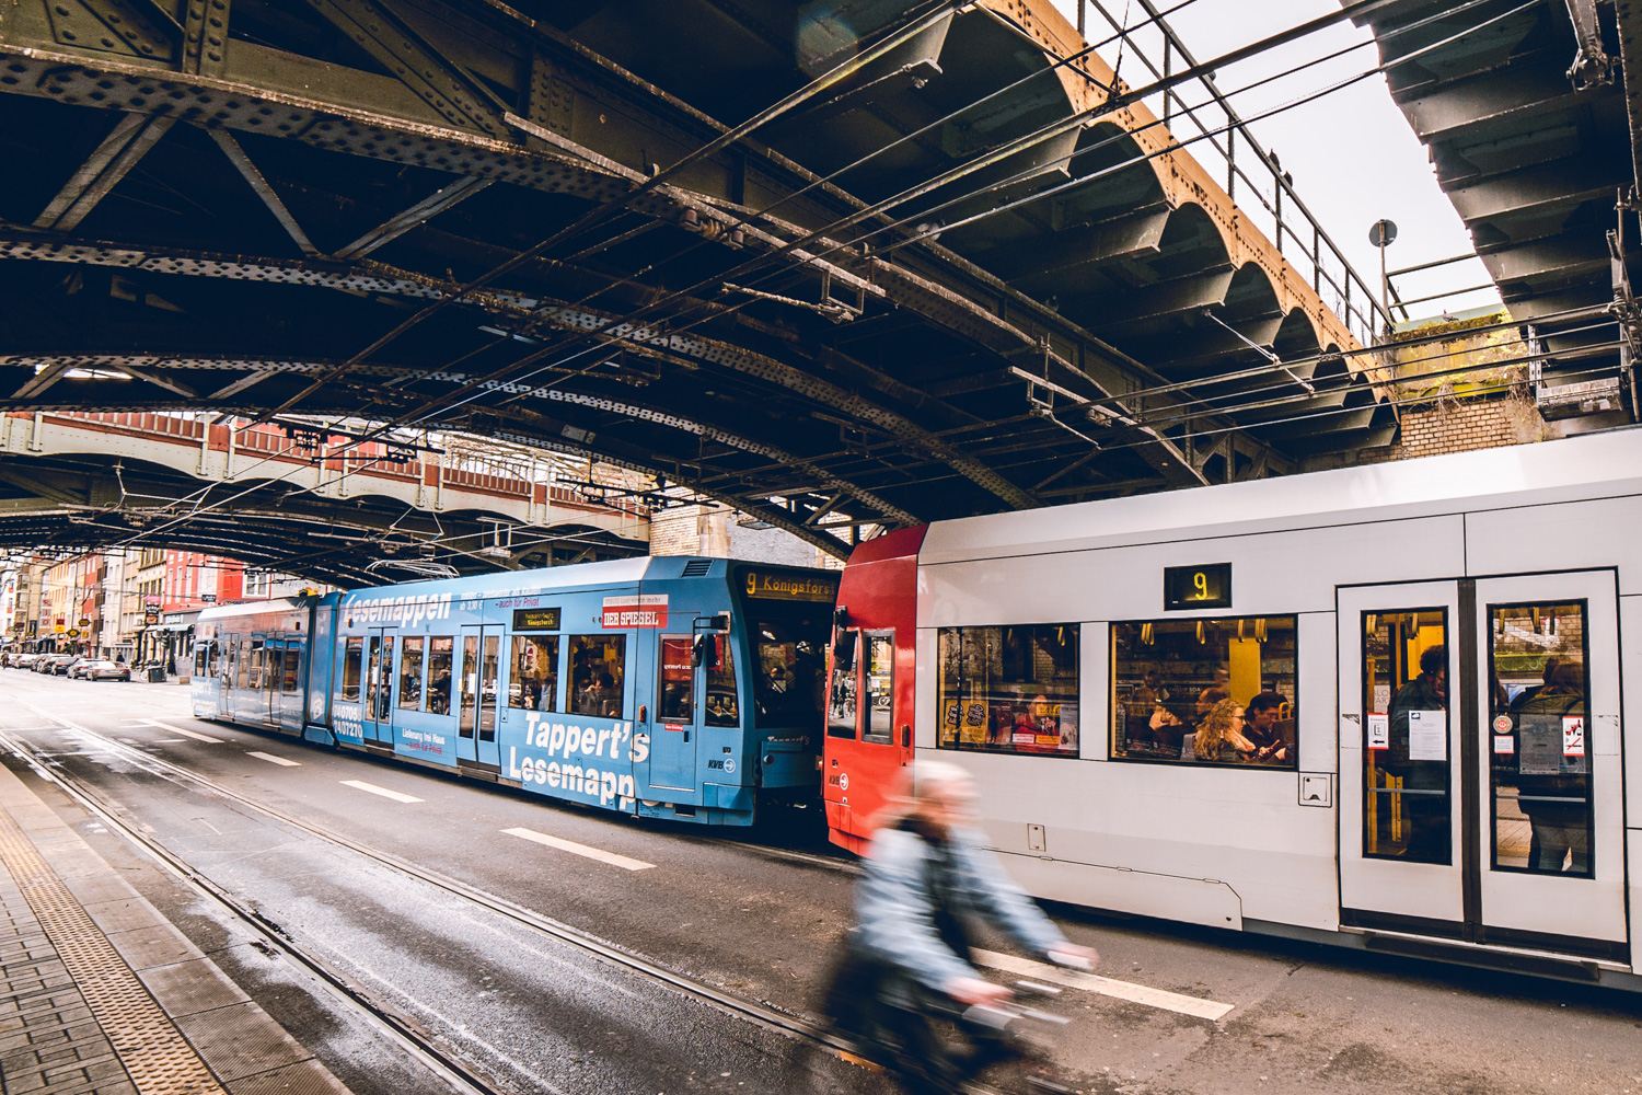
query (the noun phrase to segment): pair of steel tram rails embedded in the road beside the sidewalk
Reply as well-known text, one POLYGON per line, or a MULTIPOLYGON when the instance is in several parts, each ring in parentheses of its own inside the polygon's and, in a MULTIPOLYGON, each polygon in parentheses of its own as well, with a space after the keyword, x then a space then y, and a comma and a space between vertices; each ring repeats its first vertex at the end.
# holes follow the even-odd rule
MULTIPOLYGON (((389 870, 399 872, 409 878, 414 878, 424 885, 433 887, 442 893, 468 901, 478 908, 483 908, 493 914, 498 914, 517 926, 527 928, 540 936, 545 936, 555 942, 571 946, 594 959, 619 967, 629 974, 635 974, 650 982, 665 985, 667 988, 681 993, 688 998, 706 1003, 721 1013, 732 1016, 737 1021, 752 1023, 772 1031, 778 1031, 787 1038, 793 1039, 795 1047, 801 1047, 811 1052, 823 1052, 829 1056, 841 1057, 857 1065, 877 1067, 867 1062, 851 1042, 823 1031, 813 1023, 793 1016, 777 1006, 764 1001, 752 1001, 732 993, 727 993, 714 985, 704 983, 701 980, 691 978, 678 970, 668 969, 660 962, 649 959, 642 954, 635 954, 614 944, 608 939, 601 939, 591 932, 581 931, 575 926, 557 921, 550 916, 529 909, 522 905, 509 901, 507 898, 488 893, 478 887, 465 883, 458 878, 450 878, 440 872, 429 870, 417 864, 407 862, 406 859, 394 855, 392 852, 381 850, 363 841, 351 839, 348 836, 333 832, 315 826, 302 818, 291 813, 261 803, 251 796, 241 795, 215 780, 204 777, 197 772, 186 768, 184 765, 158 757, 151 752, 128 745, 115 737, 108 737, 99 731, 80 726, 72 719, 53 714, 28 701, 18 701, 20 706, 30 709, 38 717, 51 722, 53 726, 62 727, 80 735, 87 744, 95 744, 99 749, 105 749, 113 755, 120 755, 133 763, 141 765, 144 770, 161 775, 163 778, 186 783, 199 788, 209 795, 218 796, 236 806, 251 809, 269 821, 289 826, 302 834, 307 834, 323 844, 345 849, 346 852, 366 859, 376 865, 386 867, 389 870)), ((351 1005, 353 1008, 363 1011, 369 1021, 383 1029, 397 1044, 410 1051, 419 1061, 427 1064, 430 1070, 445 1079, 453 1090, 465 1092, 470 1095, 501 1095, 509 1088, 498 1084, 496 1080, 486 1077, 481 1069, 478 1069, 471 1061, 465 1061, 453 1054, 438 1036, 422 1029, 422 1026, 391 1005, 378 1000, 374 993, 358 985, 355 980, 337 970, 327 959, 315 954, 312 949, 305 947, 302 942, 294 939, 284 931, 274 919, 269 919, 264 913, 251 908, 248 903, 235 896, 225 887, 217 885, 210 877, 197 870, 192 864, 184 860, 181 855, 167 849, 156 837, 143 831, 141 822, 126 818, 125 811, 117 804, 110 803, 107 798, 97 793, 95 788, 87 785, 61 770, 59 763, 54 763, 49 755, 34 749, 25 740, 16 737, 16 731, 0 731, 0 749, 13 754, 23 763, 28 763, 41 778, 49 780, 59 786, 74 801, 84 806, 89 813, 102 819, 110 829, 130 841, 133 845, 143 849, 148 855, 156 859, 171 873, 182 878, 218 908, 225 909, 236 921, 251 928, 256 936, 259 936, 268 946, 277 952, 287 955, 299 967, 309 970, 319 977, 325 987, 335 993, 340 1000, 351 1005)), ((803 857, 806 862, 811 859, 803 857)), ((831 865, 821 857, 816 865, 831 865)), ((982 1084, 970 1084, 965 1088, 972 1095, 1008 1095, 1002 1088, 995 1088, 982 1084)))

